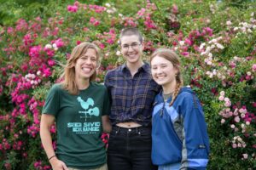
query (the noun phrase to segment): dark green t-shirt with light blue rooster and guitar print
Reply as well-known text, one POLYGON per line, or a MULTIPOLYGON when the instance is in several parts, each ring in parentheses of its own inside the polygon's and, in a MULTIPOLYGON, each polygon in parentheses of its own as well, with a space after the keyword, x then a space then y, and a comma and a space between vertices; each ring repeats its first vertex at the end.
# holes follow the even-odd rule
POLYGON ((55 116, 58 159, 74 168, 96 168, 106 163, 102 116, 109 113, 108 91, 102 84, 90 82, 79 95, 68 94, 61 84, 55 84, 49 90, 43 114, 55 116))

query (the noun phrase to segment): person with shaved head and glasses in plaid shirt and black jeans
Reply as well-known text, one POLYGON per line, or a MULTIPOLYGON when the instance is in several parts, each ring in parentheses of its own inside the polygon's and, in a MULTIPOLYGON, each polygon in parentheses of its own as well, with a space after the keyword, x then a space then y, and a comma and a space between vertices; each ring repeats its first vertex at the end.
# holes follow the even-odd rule
POLYGON ((111 96, 112 132, 108 141, 108 170, 156 169, 151 161, 151 114, 160 86, 143 62, 143 37, 137 28, 119 36, 124 65, 108 71, 105 86, 111 96))

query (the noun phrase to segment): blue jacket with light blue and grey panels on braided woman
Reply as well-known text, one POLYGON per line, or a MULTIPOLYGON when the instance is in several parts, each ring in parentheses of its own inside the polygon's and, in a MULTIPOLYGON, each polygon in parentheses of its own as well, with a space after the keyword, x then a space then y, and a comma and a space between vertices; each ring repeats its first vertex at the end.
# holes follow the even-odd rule
POLYGON ((207 123, 191 88, 181 88, 177 99, 154 99, 152 161, 155 165, 181 163, 182 168, 206 169, 209 155, 207 123))

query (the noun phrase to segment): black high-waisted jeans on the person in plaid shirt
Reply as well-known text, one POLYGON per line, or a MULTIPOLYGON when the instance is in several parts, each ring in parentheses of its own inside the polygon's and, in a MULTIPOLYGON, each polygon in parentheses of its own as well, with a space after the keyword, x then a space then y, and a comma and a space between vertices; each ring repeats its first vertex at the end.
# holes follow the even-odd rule
POLYGON ((108 141, 108 170, 155 170, 151 127, 113 126, 108 141))

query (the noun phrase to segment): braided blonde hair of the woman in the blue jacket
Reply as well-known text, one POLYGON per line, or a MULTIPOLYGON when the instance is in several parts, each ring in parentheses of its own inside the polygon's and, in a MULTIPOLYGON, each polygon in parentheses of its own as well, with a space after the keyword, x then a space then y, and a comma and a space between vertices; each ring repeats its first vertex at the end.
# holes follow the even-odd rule
POLYGON ((168 48, 158 48, 154 51, 154 53, 150 57, 150 63, 154 57, 159 56, 164 59, 169 60, 174 68, 177 69, 177 75, 176 75, 176 87, 174 90, 174 93, 172 94, 172 101, 170 102, 170 106, 173 104, 174 100, 177 98, 177 94, 179 93, 180 89, 183 87, 183 77, 181 74, 181 68, 180 68, 180 60, 179 57, 174 51, 168 48))

